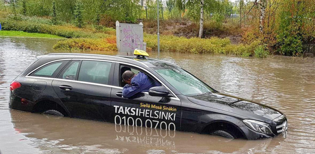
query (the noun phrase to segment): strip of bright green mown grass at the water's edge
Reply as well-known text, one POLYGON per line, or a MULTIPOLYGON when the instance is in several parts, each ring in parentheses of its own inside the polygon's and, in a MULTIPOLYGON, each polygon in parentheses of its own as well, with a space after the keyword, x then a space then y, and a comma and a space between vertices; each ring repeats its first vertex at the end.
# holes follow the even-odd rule
POLYGON ((15 30, 0 30, 0 36, 64 39, 64 37, 61 37, 58 35, 41 34, 41 33, 27 33, 27 32, 23 32, 23 31, 15 31, 15 30))

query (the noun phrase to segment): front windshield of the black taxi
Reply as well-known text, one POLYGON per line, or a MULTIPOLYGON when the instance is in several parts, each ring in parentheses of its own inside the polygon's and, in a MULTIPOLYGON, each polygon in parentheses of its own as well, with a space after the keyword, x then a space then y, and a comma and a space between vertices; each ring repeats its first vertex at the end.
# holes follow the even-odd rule
POLYGON ((214 92, 208 85, 181 68, 154 67, 153 70, 185 96, 196 96, 214 92))

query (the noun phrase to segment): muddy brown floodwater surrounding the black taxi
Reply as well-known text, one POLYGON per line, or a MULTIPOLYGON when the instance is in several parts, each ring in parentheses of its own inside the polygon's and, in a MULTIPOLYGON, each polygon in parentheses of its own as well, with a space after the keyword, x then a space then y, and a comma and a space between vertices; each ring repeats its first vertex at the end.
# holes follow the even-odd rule
POLYGON ((10 110, 9 84, 36 56, 69 52, 53 50, 57 41, 0 37, 1 154, 315 153, 315 59, 161 53, 161 59, 192 72, 216 90, 269 105, 288 118, 286 136, 230 140, 10 110))

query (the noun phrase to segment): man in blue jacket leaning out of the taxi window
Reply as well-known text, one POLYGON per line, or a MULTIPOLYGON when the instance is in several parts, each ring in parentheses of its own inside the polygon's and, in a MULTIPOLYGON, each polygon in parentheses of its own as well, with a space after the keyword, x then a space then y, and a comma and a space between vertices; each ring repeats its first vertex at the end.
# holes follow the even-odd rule
POLYGON ((127 84, 123 87, 123 97, 130 98, 140 92, 148 92, 152 87, 160 86, 151 77, 139 72, 125 71, 122 75, 123 81, 127 84))

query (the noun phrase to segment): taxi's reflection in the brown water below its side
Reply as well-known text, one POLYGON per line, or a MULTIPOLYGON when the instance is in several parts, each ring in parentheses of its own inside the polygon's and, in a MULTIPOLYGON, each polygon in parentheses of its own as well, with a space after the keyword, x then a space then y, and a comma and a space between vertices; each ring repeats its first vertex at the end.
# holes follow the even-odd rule
POLYGON ((279 141, 284 140, 233 140, 15 110, 11 110, 10 114, 16 133, 26 136, 21 138, 51 153, 89 153, 89 149, 93 149, 94 153, 123 153, 124 149, 128 150, 127 153, 146 153, 149 149, 164 150, 165 153, 174 153, 174 150, 178 153, 264 153, 267 147, 278 146, 279 141), (210 149, 212 152, 209 152, 210 149))

